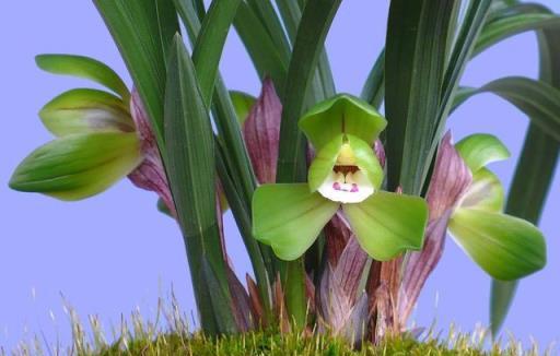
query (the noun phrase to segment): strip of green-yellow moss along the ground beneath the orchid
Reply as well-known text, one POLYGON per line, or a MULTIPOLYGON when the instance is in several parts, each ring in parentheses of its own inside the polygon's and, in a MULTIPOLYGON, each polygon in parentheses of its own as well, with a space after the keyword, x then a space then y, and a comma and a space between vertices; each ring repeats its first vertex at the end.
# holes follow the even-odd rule
POLYGON ((102 356, 117 355, 514 355, 511 351, 491 353, 482 352, 479 346, 470 345, 467 337, 459 337, 454 343, 428 340, 418 342, 412 339, 387 340, 380 346, 365 345, 360 351, 353 351, 341 340, 326 336, 303 337, 296 334, 279 335, 269 333, 249 333, 245 335, 224 336, 215 340, 200 334, 162 334, 154 340, 133 340, 128 343, 119 342, 98 353, 102 356))

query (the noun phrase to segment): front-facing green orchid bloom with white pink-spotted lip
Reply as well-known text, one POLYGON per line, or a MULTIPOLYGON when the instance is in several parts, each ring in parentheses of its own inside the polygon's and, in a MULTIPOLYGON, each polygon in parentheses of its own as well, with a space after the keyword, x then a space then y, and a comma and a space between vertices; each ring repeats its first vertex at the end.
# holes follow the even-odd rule
POLYGON ((362 249, 385 261, 422 247, 425 202, 381 191, 384 174, 373 146, 385 119, 350 95, 320 103, 300 128, 316 152, 307 183, 264 185, 253 198, 257 239, 283 260, 301 257, 342 207, 362 249))

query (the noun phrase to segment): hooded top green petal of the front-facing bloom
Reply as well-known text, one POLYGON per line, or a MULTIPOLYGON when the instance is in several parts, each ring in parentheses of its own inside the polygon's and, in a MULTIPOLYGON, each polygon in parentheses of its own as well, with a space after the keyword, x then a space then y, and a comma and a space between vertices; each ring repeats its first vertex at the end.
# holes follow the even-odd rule
POLYGON ((339 94, 313 107, 300 119, 299 124, 315 150, 319 151, 343 132, 355 135, 371 146, 387 121, 368 103, 339 94))

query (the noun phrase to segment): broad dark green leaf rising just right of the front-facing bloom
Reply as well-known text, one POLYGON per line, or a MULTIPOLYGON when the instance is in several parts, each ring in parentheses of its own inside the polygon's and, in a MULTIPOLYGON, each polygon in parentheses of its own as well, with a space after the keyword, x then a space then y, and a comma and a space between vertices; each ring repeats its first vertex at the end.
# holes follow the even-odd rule
POLYGON ((387 183, 419 194, 431 162, 456 1, 393 0, 385 54, 387 183))

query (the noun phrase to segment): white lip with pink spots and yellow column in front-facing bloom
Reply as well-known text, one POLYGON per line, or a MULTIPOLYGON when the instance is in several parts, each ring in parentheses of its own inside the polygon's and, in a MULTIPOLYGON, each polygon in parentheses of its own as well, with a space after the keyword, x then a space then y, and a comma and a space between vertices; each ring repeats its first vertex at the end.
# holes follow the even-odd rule
POLYGON ((340 203, 360 203, 375 192, 371 181, 355 165, 354 153, 348 143, 340 149, 337 163, 318 192, 340 203))

